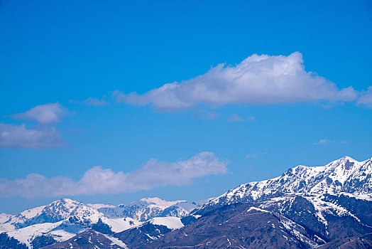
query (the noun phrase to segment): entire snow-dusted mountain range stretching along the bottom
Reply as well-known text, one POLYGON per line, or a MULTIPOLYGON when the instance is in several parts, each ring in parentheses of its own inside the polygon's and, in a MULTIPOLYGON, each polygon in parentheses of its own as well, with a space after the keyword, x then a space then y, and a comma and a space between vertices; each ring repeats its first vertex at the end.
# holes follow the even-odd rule
POLYGON ((0 249, 372 248, 371 175, 371 159, 342 157, 204 201, 114 206, 62 198, 0 214, 0 249))

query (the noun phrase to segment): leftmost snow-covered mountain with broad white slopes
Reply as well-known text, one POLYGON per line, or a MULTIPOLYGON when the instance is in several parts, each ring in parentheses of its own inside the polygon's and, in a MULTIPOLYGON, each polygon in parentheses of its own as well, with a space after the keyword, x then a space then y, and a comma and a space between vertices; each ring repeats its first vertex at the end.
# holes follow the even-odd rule
POLYGON ((0 231, 32 247, 33 240, 48 236, 63 241, 87 230, 102 218, 96 208, 78 201, 62 198, 47 206, 31 208, 0 223, 0 231))

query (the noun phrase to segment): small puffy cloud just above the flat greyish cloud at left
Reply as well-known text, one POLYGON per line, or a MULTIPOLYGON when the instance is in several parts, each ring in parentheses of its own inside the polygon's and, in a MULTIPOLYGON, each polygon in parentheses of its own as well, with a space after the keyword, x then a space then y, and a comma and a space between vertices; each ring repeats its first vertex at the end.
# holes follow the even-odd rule
POLYGON ((58 102, 45 105, 37 105, 27 112, 16 113, 12 117, 24 120, 36 120, 41 124, 60 122, 60 118, 67 115, 67 109, 58 102))

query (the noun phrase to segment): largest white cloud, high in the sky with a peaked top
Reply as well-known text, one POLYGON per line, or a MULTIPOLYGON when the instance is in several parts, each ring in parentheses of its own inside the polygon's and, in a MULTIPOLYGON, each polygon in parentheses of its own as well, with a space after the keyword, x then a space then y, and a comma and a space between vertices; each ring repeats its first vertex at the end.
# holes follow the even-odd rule
POLYGON ((267 104, 344 102, 356 99, 354 88, 339 89, 316 73, 305 71, 302 54, 251 55, 236 66, 219 64, 204 75, 168 83, 143 95, 114 92, 117 102, 152 104, 160 110, 188 109, 201 103, 267 104))

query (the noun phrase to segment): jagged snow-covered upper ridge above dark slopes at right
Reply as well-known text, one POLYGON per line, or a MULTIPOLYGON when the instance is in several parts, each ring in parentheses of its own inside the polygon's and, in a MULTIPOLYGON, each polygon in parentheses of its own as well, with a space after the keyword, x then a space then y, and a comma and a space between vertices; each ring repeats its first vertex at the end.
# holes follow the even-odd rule
POLYGON ((265 181, 242 184, 213 198, 207 206, 217 203, 256 201, 279 194, 337 194, 366 195, 372 193, 372 161, 356 161, 342 157, 325 166, 295 166, 281 176, 265 181))

